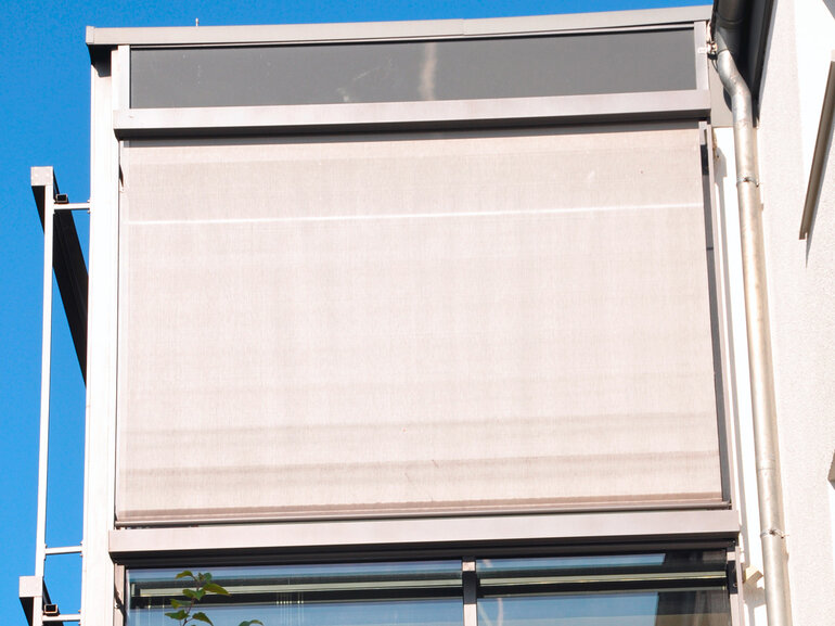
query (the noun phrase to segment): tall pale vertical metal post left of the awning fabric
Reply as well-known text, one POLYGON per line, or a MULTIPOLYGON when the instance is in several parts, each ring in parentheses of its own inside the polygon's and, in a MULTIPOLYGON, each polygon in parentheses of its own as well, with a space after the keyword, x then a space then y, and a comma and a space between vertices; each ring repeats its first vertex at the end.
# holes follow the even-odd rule
MULTIPOLYGON (((81 606, 95 626, 119 623, 116 567, 107 549, 114 523, 116 467, 116 311, 118 281, 119 146, 113 111, 119 107, 127 48, 98 51, 91 67, 90 335, 85 459, 85 573, 81 606)), ((127 106, 127 103, 124 104, 127 106)))

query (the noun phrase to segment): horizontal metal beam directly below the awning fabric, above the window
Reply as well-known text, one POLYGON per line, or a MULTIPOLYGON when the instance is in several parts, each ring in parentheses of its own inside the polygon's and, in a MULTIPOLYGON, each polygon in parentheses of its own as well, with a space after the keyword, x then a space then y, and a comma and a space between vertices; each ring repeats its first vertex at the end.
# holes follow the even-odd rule
POLYGON ((578 544, 728 540, 740 532, 735 511, 642 511, 478 518, 124 528, 110 534, 114 559, 223 552, 322 551, 578 544))

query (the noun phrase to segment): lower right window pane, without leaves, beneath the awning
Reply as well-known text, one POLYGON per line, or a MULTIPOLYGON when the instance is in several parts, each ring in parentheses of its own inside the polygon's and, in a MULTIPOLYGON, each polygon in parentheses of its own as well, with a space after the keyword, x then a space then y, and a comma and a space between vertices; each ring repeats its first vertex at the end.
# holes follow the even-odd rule
POLYGON ((728 626, 724 553, 481 560, 479 626, 728 626))

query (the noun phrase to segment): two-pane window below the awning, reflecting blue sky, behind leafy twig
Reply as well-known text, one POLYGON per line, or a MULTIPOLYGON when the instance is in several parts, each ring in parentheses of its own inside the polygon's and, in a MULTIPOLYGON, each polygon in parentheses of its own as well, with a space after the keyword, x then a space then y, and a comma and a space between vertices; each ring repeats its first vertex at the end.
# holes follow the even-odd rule
MULTIPOLYGON (((478 626, 730 624, 723 550, 205 570, 230 592, 201 604, 216 626, 476 626, 473 601, 478 626)), ((177 573, 129 571, 129 626, 171 624, 177 573)))

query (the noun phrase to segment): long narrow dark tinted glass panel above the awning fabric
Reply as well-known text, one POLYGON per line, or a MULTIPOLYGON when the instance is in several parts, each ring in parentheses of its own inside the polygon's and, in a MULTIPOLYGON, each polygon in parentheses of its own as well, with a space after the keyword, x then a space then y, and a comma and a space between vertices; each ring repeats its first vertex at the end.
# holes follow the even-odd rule
POLYGON ((408 102, 695 89, 692 28, 131 52, 131 106, 408 102))

